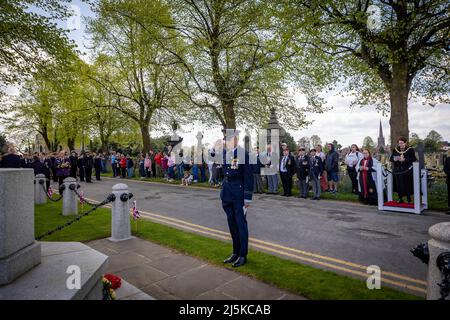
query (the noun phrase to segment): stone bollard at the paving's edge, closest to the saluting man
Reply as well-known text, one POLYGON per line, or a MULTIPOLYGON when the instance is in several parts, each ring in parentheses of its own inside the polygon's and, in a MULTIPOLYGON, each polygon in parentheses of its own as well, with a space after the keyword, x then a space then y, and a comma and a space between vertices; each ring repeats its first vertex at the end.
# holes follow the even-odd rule
POLYGON ((131 239, 128 186, 123 183, 118 183, 113 186, 112 190, 112 193, 116 196, 116 200, 112 203, 111 208, 111 238, 109 240, 118 242, 131 239), (122 200, 121 197, 126 198, 126 200, 122 200))

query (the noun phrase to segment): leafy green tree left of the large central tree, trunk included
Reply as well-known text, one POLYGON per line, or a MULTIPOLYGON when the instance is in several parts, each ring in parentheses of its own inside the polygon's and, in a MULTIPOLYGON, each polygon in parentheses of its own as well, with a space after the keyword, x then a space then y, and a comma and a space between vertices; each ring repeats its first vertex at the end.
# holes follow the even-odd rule
POLYGON ((88 31, 96 63, 105 67, 90 79, 115 95, 112 107, 138 125, 148 151, 153 117, 167 119, 181 104, 174 85, 180 68, 162 47, 173 42, 155 40, 163 38, 164 31, 155 20, 170 20, 169 11, 160 1, 100 0, 94 12, 97 16, 89 20, 88 31))

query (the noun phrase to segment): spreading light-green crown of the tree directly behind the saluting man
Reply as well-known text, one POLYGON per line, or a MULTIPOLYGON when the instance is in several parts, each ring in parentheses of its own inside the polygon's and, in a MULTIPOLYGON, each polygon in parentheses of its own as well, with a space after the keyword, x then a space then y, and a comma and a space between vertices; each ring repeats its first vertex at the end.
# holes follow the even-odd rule
MULTIPOLYGON (((180 46, 166 47, 184 67, 178 89, 195 106, 194 115, 208 125, 236 128, 262 125, 276 108, 287 125, 307 123, 287 88, 286 65, 301 47, 290 46, 293 29, 286 29, 273 1, 175 0, 169 2, 180 46)), ((307 73, 307 70, 303 70, 307 73)), ((310 86, 305 85, 309 88, 310 86)), ((302 91, 303 92, 303 91, 302 91)), ((308 102, 320 100, 308 94, 308 102)))

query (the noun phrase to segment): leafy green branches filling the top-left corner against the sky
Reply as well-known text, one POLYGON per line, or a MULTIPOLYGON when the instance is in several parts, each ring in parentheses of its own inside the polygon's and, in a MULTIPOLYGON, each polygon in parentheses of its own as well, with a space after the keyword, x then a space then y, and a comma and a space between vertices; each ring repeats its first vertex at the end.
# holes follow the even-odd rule
POLYGON ((0 85, 16 85, 37 70, 48 68, 49 62, 53 67, 66 63, 74 44, 55 22, 70 17, 70 2, 0 2, 0 85))

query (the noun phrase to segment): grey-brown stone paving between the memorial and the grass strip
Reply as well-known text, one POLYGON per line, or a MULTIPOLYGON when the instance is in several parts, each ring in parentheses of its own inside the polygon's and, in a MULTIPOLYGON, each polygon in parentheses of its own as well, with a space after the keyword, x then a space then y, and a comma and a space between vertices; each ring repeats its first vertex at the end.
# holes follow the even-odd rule
POLYGON ((303 299, 143 239, 119 243, 100 239, 87 245, 108 255, 107 272, 121 276, 126 286, 131 286, 125 297, 122 293, 119 298, 117 292, 118 299, 147 300, 146 295, 158 300, 303 299))

